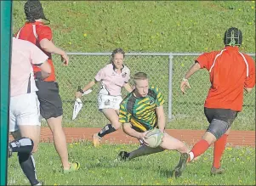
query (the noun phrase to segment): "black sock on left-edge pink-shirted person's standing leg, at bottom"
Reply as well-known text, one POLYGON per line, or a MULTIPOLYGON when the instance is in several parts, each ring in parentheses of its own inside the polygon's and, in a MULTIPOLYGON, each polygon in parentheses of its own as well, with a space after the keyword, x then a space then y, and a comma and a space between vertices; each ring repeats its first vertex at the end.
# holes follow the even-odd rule
POLYGON ((36 185, 39 183, 37 181, 37 174, 36 174, 36 168, 34 164, 34 158, 31 154, 27 153, 20 153, 19 155, 19 163, 22 171, 25 173, 26 178, 30 181, 31 185, 36 185))

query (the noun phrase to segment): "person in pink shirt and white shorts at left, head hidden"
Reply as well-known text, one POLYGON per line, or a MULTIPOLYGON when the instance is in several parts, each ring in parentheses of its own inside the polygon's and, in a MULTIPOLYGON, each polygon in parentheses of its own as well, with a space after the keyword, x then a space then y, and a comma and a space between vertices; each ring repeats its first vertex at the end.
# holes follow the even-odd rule
POLYGON ((18 152, 21 169, 31 185, 41 185, 37 180, 35 161, 31 155, 31 152, 37 150, 41 127, 37 87, 31 64, 37 65, 42 70, 43 78, 46 78, 51 72, 47 59, 48 56, 31 42, 13 37, 9 132, 16 141, 10 143, 9 148, 18 152))

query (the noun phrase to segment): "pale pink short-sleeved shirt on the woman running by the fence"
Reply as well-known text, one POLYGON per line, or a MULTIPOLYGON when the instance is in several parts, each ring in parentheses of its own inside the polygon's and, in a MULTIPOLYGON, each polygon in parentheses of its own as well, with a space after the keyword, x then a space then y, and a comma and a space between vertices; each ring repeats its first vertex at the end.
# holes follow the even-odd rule
POLYGON ((121 87, 128 83, 130 70, 123 65, 121 74, 117 74, 112 64, 105 65, 94 77, 97 82, 101 82, 100 94, 121 96, 121 87))

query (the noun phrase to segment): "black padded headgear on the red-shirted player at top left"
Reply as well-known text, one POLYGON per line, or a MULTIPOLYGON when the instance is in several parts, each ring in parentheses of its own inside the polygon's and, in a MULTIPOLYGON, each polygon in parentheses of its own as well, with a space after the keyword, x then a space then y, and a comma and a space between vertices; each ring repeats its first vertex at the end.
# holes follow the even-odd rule
MULTIPOLYGON (((28 0, 24 5, 24 12, 28 22, 34 23, 39 19, 48 20, 43 14, 42 4, 38 0, 28 0)), ((48 24, 49 23, 50 20, 48 20, 48 24)))

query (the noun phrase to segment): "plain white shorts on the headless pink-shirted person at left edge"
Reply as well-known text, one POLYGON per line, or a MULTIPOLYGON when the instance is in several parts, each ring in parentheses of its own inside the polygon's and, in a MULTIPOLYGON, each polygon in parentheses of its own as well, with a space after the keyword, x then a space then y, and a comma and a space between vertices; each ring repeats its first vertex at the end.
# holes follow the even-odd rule
POLYGON ((37 93, 26 93, 10 98, 9 132, 19 130, 21 125, 41 126, 37 93))

